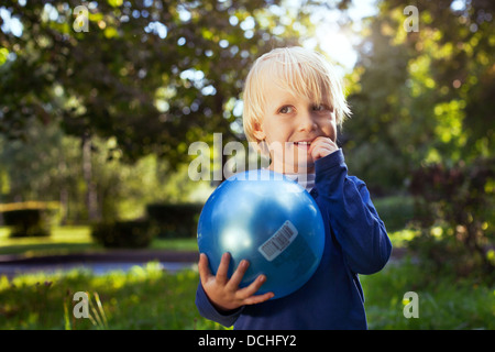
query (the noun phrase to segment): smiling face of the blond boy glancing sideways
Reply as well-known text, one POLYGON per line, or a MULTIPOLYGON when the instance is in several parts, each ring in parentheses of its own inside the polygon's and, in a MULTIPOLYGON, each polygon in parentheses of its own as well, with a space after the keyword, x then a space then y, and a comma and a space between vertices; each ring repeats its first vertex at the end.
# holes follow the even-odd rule
POLYGON ((270 148, 270 168, 279 173, 314 173, 319 157, 315 147, 337 147, 337 122, 332 107, 293 96, 270 82, 264 118, 254 135, 270 148), (328 146, 328 145, 330 146, 328 146), (323 146, 321 146, 323 145, 323 146))

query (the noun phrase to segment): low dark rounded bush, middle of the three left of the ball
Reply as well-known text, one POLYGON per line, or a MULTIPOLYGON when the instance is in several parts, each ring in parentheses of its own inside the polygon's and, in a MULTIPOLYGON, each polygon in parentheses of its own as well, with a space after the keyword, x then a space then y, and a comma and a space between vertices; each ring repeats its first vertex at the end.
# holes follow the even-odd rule
POLYGON ((146 248, 155 231, 145 220, 100 222, 92 226, 91 237, 105 248, 146 248))

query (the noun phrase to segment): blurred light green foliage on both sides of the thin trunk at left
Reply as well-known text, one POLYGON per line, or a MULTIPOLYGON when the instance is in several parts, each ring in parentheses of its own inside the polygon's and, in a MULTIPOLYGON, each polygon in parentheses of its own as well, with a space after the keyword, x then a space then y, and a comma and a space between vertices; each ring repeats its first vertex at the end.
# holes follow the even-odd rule
MULTIPOLYGON (((0 198, 18 202, 58 199, 58 222, 87 220, 88 187, 82 176, 80 141, 64 135, 57 125, 43 127, 40 122, 33 122, 25 136, 24 142, 8 142, 0 136, 0 198)), ((142 217, 150 202, 202 201, 211 191, 210 185, 190 183, 187 167, 180 166, 174 173, 167 162, 156 155, 128 164, 114 146, 114 139, 92 139, 91 165, 98 210, 107 221, 142 217)))

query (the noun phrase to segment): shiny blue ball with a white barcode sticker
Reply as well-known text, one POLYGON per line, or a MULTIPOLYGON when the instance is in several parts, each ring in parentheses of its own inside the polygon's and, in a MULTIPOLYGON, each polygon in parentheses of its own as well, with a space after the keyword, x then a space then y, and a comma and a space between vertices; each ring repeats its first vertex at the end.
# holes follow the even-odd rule
POLYGON ((198 222, 199 252, 216 274, 223 253, 231 254, 229 277, 242 260, 250 266, 240 287, 264 274, 256 294, 285 297, 317 270, 324 226, 315 199, 296 182, 266 169, 239 173, 208 198, 198 222))

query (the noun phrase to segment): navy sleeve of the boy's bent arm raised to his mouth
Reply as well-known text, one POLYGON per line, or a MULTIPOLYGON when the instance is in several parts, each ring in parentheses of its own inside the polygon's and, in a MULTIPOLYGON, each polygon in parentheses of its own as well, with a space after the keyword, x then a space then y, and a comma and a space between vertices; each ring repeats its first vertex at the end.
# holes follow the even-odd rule
POLYGON ((358 274, 382 270, 392 253, 385 224, 370 198, 366 185, 348 176, 342 150, 316 162, 316 190, 328 205, 330 227, 350 268, 358 274))

